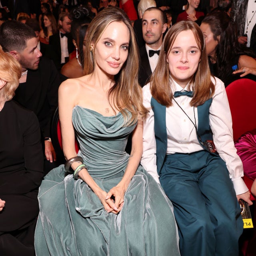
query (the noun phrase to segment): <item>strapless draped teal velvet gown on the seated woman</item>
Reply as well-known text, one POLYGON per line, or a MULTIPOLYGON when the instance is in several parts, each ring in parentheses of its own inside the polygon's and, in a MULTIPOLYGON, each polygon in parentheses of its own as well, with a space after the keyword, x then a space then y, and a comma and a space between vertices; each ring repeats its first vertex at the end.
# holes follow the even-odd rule
MULTIPOLYGON (((128 113, 130 116, 130 113, 128 113)), ((124 151, 136 124, 124 126, 121 113, 102 116, 75 106, 72 122, 88 172, 106 192, 120 182, 128 163, 124 151)), ((116 215, 81 179, 65 177, 64 165, 49 172, 40 186, 36 226, 37 256, 179 256, 173 206, 141 166, 116 215)))

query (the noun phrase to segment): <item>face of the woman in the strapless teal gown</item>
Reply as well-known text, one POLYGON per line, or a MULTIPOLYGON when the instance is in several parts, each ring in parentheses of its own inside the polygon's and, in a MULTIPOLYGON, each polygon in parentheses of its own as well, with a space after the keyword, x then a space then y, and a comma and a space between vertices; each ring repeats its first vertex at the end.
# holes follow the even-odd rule
MULTIPOLYGON (((94 46, 95 71, 114 76, 128 56, 130 31, 123 22, 111 22, 94 46)), ((92 44, 93 45, 93 44, 92 44)))

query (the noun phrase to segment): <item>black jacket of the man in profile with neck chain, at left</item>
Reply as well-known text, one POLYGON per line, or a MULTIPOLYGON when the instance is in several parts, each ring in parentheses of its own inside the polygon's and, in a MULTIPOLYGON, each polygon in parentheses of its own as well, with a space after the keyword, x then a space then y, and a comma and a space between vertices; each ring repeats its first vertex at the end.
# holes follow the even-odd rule
POLYGON ((14 100, 36 114, 42 136, 50 137, 50 122, 58 106, 60 76, 52 60, 41 58, 37 70, 28 70, 27 80, 15 91, 14 100))

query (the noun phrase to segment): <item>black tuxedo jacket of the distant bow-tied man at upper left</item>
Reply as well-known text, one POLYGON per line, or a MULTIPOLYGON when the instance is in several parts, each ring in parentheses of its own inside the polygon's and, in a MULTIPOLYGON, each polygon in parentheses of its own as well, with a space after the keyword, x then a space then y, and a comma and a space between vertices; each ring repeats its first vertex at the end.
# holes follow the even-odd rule
MULTIPOLYGON (((74 50, 74 44, 72 42, 71 34, 67 34, 68 37, 68 53, 70 54, 74 50)), ((60 33, 57 32, 56 34, 50 36, 49 38, 49 45, 51 47, 51 59, 53 60, 57 70, 60 70, 62 65, 60 64, 61 61, 61 47, 60 47, 60 33)))

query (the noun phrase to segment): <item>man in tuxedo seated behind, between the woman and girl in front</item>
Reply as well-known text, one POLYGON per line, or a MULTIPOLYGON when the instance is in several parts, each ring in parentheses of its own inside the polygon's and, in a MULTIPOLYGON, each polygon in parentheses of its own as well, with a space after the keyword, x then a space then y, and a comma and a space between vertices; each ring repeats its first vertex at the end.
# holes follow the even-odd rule
POLYGON ((146 44, 140 48, 138 74, 139 84, 142 87, 149 82, 150 76, 156 68, 166 28, 166 15, 162 10, 150 7, 144 12, 142 16, 142 33, 146 44))

